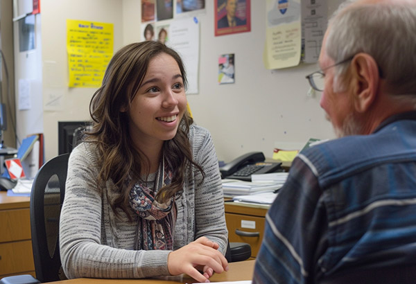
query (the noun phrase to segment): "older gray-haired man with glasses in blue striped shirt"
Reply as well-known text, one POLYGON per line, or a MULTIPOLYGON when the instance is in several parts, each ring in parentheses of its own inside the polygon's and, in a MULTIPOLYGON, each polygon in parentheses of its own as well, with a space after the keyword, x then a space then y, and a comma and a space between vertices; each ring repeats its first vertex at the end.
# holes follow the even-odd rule
POLYGON ((307 78, 339 139, 293 161, 253 283, 416 283, 416 1, 348 1, 307 78))

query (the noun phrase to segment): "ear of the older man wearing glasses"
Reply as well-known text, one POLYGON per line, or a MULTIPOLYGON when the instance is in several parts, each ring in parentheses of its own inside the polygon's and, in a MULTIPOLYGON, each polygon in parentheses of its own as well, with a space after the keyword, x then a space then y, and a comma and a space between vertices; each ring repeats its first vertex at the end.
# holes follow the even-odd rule
POLYGON ((354 107, 363 113, 374 102, 379 88, 379 69, 376 61, 367 53, 358 53, 351 63, 354 107))

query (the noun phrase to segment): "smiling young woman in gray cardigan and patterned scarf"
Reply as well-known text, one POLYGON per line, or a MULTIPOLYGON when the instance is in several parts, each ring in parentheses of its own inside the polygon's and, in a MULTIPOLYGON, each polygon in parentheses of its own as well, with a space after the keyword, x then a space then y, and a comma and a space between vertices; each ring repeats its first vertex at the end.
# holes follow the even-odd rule
POLYGON ((186 87, 180 56, 159 42, 130 44, 110 61, 90 105, 93 130, 69 159, 60 217, 68 278, 209 282, 228 269, 216 152, 187 114, 186 87))

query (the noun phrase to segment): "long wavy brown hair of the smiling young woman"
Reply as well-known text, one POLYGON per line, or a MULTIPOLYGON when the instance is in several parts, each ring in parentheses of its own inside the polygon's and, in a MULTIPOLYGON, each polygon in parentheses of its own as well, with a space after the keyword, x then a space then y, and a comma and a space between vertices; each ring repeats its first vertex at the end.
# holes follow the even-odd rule
MULTIPOLYGON (((94 123, 85 141, 95 143, 98 149, 98 163, 101 166, 99 184, 110 179, 114 182, 119 197, 110 202, 112 210, 116 213, 116 208, 121 208, 129 218, 130 188, 140 180, 142 167, 150 168, 150 161, 144 152, 137 151, 132 146, 128 131, 128 112, 121 112, 121 108, 128 107, 135 98, 146 76, 150 60, 160 53, 171 55, 177 62, 186 88, 186 72, 180 55, 159 42, 139 42, 128 44, 114 54, 105 71, 103 84, 94 93, 89 105, 89 113, 94 123), (129 185, 126 184, 128 179, 132 181, 129 185)), ((175 137, 164 141, 162 150, 171 163, 173 179, 171 184, 157 193, 156 199, 159 202, 166 202, 182 190, 186 168, 195 166, 202 173, 202 177, 205 176, 192 157, 188 138, 189 125, 192 123, 192 118, 185 112, 175 137)))

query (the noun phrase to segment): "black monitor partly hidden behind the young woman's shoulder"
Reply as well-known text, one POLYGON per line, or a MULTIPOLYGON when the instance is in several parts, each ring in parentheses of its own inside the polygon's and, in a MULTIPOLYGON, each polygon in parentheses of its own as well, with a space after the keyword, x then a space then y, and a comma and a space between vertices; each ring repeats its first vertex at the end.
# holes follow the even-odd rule
POLYGON ((58 154, 70 153, 73 149, 73 133, 91 125, 90 121, 58 121, 58 154))

